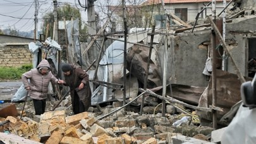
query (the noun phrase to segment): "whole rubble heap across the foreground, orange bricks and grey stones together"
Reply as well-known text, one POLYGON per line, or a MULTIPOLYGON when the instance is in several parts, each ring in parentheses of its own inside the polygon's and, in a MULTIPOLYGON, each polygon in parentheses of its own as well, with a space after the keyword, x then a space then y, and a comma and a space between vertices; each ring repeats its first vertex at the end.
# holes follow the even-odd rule
MULTIPOLYGON (((102 113, 84 112, 71 116, 66 110, 47 111, 39 119, 7 116, 0 118, 0 132, 12 133, 38 143, 170 143, 177 135, 207 140, 213 128, 193 125, 186 121, 175 127, 173 123, 185 114, 142 114, 110 105, 102 113)), ((145 107, 146 108, 146 107, 145 107)), ((191 123, 192 122, 192 123, 191 123)), ((9 141, 1 138, 4 143, 9 141)), ((15 139, 12 139, 15 141, 15 139)))

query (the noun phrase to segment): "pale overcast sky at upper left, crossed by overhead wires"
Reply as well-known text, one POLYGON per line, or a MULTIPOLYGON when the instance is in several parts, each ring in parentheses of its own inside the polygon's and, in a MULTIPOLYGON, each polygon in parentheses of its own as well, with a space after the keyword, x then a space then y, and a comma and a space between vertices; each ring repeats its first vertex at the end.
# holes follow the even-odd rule
MULTIPOLYGON (((42 27, 42 16, 47 11, 53 11, 53 0, 38 0, 39 1, 39 24, 38 30, 42 27)), ((87 23, 87 11, 81 8, 78 4, 78 0, 57 0, 58 6, 63 6, 64 3, 68 3, 71 6, 76 6, 80 9, 82 14, 82 21, 87 23)), ((85 0, 80 0, 82 4, 85 4, 85 0)), ((108 1, 111 4, 116 3, 118 0, 97 0, 95 1, 95 11, 97 6, 104 5, 108 1)), ((19 31, 31 31, 35 28, 35 0, 0 0, 0 29, 12 28, 19 31)))

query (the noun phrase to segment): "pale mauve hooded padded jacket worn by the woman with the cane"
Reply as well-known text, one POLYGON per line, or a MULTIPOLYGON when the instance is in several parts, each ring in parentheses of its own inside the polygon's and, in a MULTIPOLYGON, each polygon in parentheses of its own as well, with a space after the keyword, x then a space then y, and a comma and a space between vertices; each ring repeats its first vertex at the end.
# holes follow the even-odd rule
POLYGON ((49 83, 57 84, 58 79, 49 71, 46 75, 42 75, 39 71, 40 67, 48 67, 51 69, 47 60, 42 60, 36 69, 32 69, 21 75, 24 87, 30 87, 30 97, 32 99, 46 99, 49 83), (28 79, 30 81, 28 81, 28 79))

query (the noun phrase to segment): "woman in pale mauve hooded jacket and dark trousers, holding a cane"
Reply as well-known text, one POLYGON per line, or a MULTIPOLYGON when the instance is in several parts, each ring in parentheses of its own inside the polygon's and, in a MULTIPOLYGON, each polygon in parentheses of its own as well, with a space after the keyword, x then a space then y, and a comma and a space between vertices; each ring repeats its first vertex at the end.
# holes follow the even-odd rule
POLYGON ((21 75, 25 89, 33 99, 35 115, 43 114, 46 109, 46 98, 49 83, 59 84, 58 79, 52 75, 50 64, 42 60, 36 69, 32 69, 21 75))

